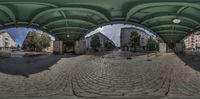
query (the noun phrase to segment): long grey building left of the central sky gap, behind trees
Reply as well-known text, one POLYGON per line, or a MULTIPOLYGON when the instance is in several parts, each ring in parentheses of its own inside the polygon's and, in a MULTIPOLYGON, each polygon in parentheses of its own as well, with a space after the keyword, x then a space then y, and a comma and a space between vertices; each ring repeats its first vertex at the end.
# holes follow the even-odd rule
POLYGON ((99 48, 100 51, 106 50, 106 45, 105 44, 107 42, 110 42, 111 44, 113 44, 115 46, 115 44, 114 44, 114 42, 112 40, 110 40, 107 36, 105 36, 104 34, 99 32, 99 33, 96 33, 94 35, 91 35, 90 37, 85 38, 85 43, 86 43, 86 49, 87 50, 91 50, 92 49, 90 42, 92 40, 92 37, 95 36, 95 35, 99 36, 99 39, 100 39, 100 43, 101 43, 101 47, 99 48))

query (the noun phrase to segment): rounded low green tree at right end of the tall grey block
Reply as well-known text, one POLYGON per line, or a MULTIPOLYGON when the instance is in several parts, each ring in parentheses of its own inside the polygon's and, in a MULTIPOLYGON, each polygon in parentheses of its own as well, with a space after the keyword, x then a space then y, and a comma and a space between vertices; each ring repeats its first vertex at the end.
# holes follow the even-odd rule
POLYGON ((158 42, 150 37, 147 41, 147 47, 149 50, 156 50, 156 48, 158 47, 158 42))

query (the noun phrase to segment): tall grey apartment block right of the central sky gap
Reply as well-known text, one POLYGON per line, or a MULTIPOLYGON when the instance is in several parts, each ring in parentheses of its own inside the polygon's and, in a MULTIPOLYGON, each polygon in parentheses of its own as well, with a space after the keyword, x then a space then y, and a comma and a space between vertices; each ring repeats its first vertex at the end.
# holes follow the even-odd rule
MULTIPOLYGON (((126 47, 130 47, 129 42, 130 42, 130 37, 131 37, 131 32, 136 31, 140 35, 140 46, 145 49, 148 39, 150 37, 156 39, 156 36, 149 35, 145 33, 144 31, 135 29, 135 28, 122 28, 121 33, 120 33, 120 46, 121 49, 126 50, 126 47)), ((128 50, 128 49, 127 49, 128 50)))

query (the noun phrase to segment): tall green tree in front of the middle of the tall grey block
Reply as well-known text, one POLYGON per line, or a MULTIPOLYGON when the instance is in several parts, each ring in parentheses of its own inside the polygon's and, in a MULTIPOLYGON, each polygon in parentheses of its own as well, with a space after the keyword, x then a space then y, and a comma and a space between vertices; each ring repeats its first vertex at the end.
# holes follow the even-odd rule
POLYGON ((136 51, 136 48, 140 46, 140 35, 137 31, 132 31, 130 36, 130 46, 134 48, 134 51, 136 51))

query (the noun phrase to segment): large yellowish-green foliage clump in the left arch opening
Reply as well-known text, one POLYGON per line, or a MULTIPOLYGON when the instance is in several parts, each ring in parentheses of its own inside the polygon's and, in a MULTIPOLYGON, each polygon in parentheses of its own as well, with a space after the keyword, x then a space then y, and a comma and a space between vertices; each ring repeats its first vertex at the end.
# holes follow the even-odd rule
POLYGON ((50 46, 50 37, 47 34, 38 35, 37 32, 29 32, 24 44, 23 49, 29 51, 42 51, 43 48, 50 46))

